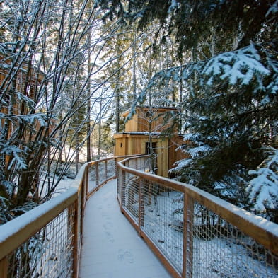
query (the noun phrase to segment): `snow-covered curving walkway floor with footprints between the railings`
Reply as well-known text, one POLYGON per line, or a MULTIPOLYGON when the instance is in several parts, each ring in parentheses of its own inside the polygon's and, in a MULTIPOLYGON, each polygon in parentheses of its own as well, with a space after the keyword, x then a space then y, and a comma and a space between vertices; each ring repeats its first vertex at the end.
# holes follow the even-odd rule
POLYGON ((120 212, 116 180, 86 203, 79 278, 170 278, 120 212))

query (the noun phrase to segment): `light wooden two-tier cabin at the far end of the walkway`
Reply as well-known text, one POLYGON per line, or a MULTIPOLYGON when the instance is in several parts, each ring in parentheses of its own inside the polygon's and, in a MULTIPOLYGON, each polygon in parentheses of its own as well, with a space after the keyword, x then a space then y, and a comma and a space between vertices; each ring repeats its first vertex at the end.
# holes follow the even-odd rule
MULTIPOLYGON (((162 136, 172 120, 165 120, 166 113, 176 113, 176 108, 137 107, 131 120, 125 124, 124 132, 114 134, 115 156, 130 154, 150 154, 150 148, 155 154, 155 173, 168 177, 168 170, 173 168, 175 161, 185 158, 182 151, 176 150, 183 144, 183 136, 178 130, 171 137, 162 136)), ((127 117, 129 111, 124 112, 127 117)))

